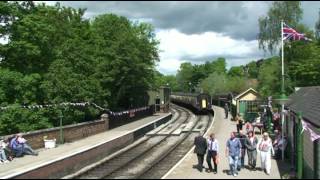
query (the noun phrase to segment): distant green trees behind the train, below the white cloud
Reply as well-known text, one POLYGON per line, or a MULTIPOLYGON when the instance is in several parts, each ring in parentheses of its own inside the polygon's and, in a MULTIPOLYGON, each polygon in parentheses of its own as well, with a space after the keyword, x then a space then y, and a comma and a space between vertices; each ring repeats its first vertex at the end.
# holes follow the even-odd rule
POLYGON ((258 64, 253 61, 248 66, 250 68, 239 66, 227 70, 224 58, 204 64, 182 63, 176 75, 162 75, 160 79, 162 84, 168 83, 173 91, 205 92, 211 95, 239 93, 258 85, 258 64))

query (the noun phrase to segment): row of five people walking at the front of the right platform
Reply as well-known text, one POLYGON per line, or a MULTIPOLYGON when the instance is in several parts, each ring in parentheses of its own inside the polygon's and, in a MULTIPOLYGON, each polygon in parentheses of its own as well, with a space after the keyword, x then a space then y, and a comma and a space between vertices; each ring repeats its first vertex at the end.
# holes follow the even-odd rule
MULTIPOLYGON (((219 163, 219 142, 215 138, 214 134, 206 139, 200 133, 194 140, 195 150, 194 153, 197 154, 198 164, 196 168, 202 172, 203 171, 203 161, 204 156, 206 156, 208 169, 207 172, 218 172, 219 163), (212 164, 214 168, 212 168, 212 164)), ((260 140, 255 136, 253 131, 249 131, 245 135, 242 131, 239 133, 232 132, 230 138, 226 142, 225 155, 229 162, 229 175, 237 176, 238 172, 244 168, 245 165, 245 155, 248 156, 248 165, 251 171, 256 171, 257 154, 259 152, 261 159, 261 169, 264 170, 266 174, 271 172, 271 158, 275 154, 273 143, 269 134, 267 132, 263 133, 260 140)))

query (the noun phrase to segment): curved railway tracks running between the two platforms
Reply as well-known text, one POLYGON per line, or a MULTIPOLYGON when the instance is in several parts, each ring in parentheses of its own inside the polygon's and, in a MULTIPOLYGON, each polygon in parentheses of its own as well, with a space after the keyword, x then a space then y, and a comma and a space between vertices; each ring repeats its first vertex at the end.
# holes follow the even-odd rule
MULTIPOLYGON (((178 106, 173 106, 173 108, 178 115, 167 126, 154 132, 153 136, 144 138, 132 148, 73 178, 161 178, 161 175, 163 176, 167 172, 167 169, 170 169, 192 147, 193 139, 198 134, 197 132, 188 131, 174 135, 174 132, 177 128, 184 128, 186 124, 192 121, 196 122, 192 127, 194 129, 198 125, 198 122, 201 122, 198 120, 199 117, 194 119, 190 111, 178 106), (163 135, 163 132, 168 134, 163 135), (165 164, 165 161, 168 160, 170 161, 169 165, 161 166, 161 164, 165 164), (156 174, 154 174, 155 172, 156 174), (151 174, 153 176, 150 176, 151 174)), ((209 126, 210 119, 208 118, 207 121, 207 126, 209 126)))

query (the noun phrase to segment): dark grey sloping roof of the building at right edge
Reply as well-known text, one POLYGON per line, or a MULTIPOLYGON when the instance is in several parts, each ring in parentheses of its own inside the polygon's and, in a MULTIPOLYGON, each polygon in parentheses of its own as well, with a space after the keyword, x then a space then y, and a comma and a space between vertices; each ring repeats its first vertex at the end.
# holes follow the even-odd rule
POLYGON ((295 113, 302 112, 304 120, 320 127, 320 86, 299 88, 289 96, 286 107, 295 113))

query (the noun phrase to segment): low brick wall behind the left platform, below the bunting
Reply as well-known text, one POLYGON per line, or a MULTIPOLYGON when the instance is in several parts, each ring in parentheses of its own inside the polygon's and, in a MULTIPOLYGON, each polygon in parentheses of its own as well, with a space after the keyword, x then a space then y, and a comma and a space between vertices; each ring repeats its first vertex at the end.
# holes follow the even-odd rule
MULTIPOLYGON (((73 124, 63 127, 64 142, 72 142, 82 139, 94 134, 104 132, 109 129, 109 118, 107 114, 103 114, 100 120, 73 124)), ((44 147, 43 137, 47 136, 48 139, 56 139, 57 143, 60 140, 60 128, 50 128, 38 131, 22 133, 23 137, 28 140, 29 145, 33 149, 44 147)), ((4 138, 11 138, 14 135, 8 135, 4 138)))

